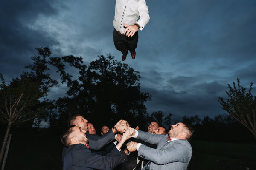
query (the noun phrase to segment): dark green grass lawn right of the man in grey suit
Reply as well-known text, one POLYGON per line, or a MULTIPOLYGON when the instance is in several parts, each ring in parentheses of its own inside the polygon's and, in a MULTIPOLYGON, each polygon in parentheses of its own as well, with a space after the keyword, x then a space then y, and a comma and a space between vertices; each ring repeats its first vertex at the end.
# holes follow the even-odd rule
POLYGON ((188 170, 256 170, 256 145, 192 141, 188 170))

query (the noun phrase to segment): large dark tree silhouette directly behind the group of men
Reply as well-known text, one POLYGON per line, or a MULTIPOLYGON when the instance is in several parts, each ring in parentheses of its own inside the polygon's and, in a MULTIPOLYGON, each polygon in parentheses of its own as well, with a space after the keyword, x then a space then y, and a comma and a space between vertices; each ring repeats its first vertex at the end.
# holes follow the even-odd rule
POLYGON ((140 73, 131 66, 116 61, 111 54, 98 56, 88 66, 74 56, 52 57, 51 62, 69 87, 67 97, 56 101, 60 119, 79 113, 95 127, 112 125, 119 119, 127 119, 133 126, 146 124, 144 103, 150 95, 140 91, 140 73), (78 79, 71 79, 65 64, 78 70, 78 79))

